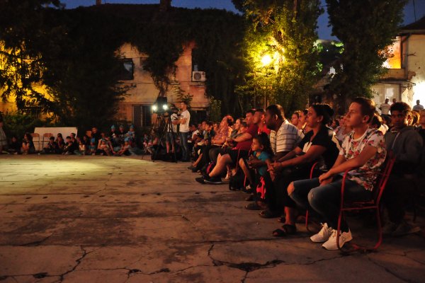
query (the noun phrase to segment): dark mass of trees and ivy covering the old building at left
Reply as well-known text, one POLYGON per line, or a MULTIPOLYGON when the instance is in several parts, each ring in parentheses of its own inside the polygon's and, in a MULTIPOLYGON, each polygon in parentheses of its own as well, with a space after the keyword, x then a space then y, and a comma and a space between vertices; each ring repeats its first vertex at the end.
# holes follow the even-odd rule
MULTIPOLYGON (((28 78, 30 70, 34 76, 22 87, 19 80, 11 84, 13 80, 0 74, 1 97, 15 96, 18 108, 40 106, 67 125, 107 125, 127 91, 117 87, 120 54, 116 50, 121 45, 130 43, 147 54, 143 67, 163 95, 183 45, 194 41, 193 62, 207 74, 208 96, 223 100, 226 112, 238 111, 234 85, 244 66, 238 45, 243 37, 241 16, 215 9, 161 12, 158 5, 45 8, 43 4, 50 2, 59 5, 58 1, 0 0, 0 16, 11 11, 20 18, 0 21, 0 42, 12 51, 26 52, 33 64, 23 68, 21 78, 28 78), (18 16, 27 10, 30 16, 18 16), (47 86, 48 95, 33 91, 34 83, 47 86)), ((8 58, 9 67, 17 64, 13 52, 8 58)), ((190 94, 183 98, 191 100, 190 94)))

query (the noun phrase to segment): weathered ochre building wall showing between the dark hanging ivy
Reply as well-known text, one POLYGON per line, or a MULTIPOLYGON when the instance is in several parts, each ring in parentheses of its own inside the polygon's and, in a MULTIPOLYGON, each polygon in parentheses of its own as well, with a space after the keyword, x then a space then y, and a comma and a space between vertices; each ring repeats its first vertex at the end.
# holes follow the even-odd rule
MULTIPOLYGON (((183 46, 183 53, 175 63, 176 72, 170 77, 171 85, 166 97, 169 104, 179 106, 180 101, 176 94, 176 89, 179 88, 193 96, 191 110, 202 115, 208 108, 209 100, 205 96, 205 74, 196 70, 192 64, 194 46, 194 42, 183 46)), ((147 55, 130 44, 122 45, 118 52, 123 57, 123 66, 129 73, 121 83, 130 89, 125 100, 119 103, 117 119, 132 121, 136 127, 149 127, 152 124, 152 105, 159 96, 159 89, 155 86, 152 76, 143 67, 147 55)))

